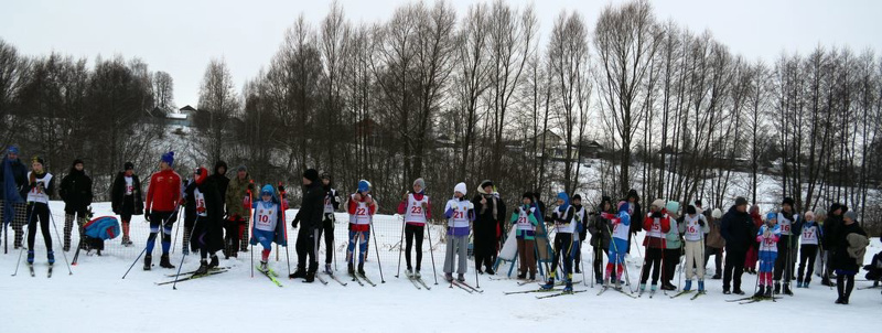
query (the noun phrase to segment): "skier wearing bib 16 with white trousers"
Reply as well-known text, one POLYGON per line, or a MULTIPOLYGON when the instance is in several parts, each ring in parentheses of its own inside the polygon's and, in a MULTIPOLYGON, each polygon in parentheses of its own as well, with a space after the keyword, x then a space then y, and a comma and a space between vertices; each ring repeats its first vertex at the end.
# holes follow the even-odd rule
POLYGON ((704 215, 699 214, 695 205, 688 205, 686 206, 686 216, 679 225, 679 232, 684 235, 686 243, 686 261, 682 264, 686 269, 686 286, 682 290, 692 290, 692 277, 696 275, 692 267, 697 267, 698 292, 704 293, 704 234, 710 233, 710 226, 704 219, 704 215))

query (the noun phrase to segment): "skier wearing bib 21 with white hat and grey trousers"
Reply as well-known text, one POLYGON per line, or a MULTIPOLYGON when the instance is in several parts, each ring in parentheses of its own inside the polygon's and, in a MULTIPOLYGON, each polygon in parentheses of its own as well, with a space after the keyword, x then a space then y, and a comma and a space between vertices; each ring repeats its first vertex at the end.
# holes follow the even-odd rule
POLYGON ((475 221, 474 204, 465 197, 465 183, 453 187, 453 198, 444 206, 444 217, 448 218, 448 246, 444 257, 444 279, 453 282, 453 261, 459 256, 456 281, 465 282, 465 272, 469 268, 469 232, 471 223, 475 221))

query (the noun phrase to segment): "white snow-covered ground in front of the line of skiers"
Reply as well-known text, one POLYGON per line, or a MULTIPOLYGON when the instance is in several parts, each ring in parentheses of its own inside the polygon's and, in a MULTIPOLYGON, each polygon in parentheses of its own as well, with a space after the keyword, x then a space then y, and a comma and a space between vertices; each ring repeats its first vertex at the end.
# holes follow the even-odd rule
MULTIPOLYGON (((61 203, 52 204, 60 232, 64 223, 62 207, 61 203)), ((107 204, 97 204, 96 208, 96 216, 109 213, 107 204)), ((288 219, 292 218, 290 211, 288 219)), ((394 221, 390 216, 385 218, 394 221)), ((338 226, 344 226, 337 228, 341 237, 345 225, 338 226)), ((146 232, 143 224, 132 226, 133 234, 142 233, 136 228, 146 232)), ((380 238, 397 241, 395 228, 384 230, 377 232, 380 238)), ((289 229, 290 235, 293 233, 289 229)), ((669 299, 660 291, 654 299, 644 296, 635 300, 612 291, 598 297, 599 289, 584 284, 576 289, 591 291, 537 300, 535 293, 503 294, 536 286, 518 287, 514 280, 490 280, 487 276, 480 277, 484 292, 469 294, 443 282, 432 284, 428 250, 423 273, 432 290, 417 290, 404 273, 401 279, 395 278, 397 250, 390 250, 392 247, 385 246, 384 240, 379 248, 384 251, 380 259, 386 283, 380 283, 373 240, 372 259, 366 265, 368 277, 378 283, 375 288, 354 282, 342 287, 330 279, 327 286, 283 279, 284 287, 278 288, 257 272, 250 277, 246 255, 238 260, 222 259, 222 266, 233 267, 230 272, 182 282, 179 290, 172 290, 171 286, 154 284, 169 280, 165 275, 172 270, 157 266, 152 271, 142 271, 140 261, 121 280, 142 248, 121 248, 119 239, 108 241, 104 257, 80 254, 79 265, 68 276, 54 230, 52 236, 57 254, 52 279, 45 277, 42 246, 37 246, 35 278, 28 275, 24 265, 17 277, 0 278, 0 332, 753 332, 765 330, 765 324, 786 325, 790 332, 868 332, 878 327, 880 321, 873 318, 882 303, 880 289, 871 289, 856 290, 850 305, 833 304, 836 291, 820 286, 818 278, 810 289, 796 289, 793 298, 745 305, 725 302, 735 297, 722 294, 720 280, 708 280, 709 294, 695 301, 685 297, 669 299)), ((40 237, 37 244, 42 243, 40 237)), ((433 240, 438 243, 437 238, 433 240)), ((868 261, 880 250, 878 238, 872 240, 872 247, 868 249, 868 261)), ((337 248, 342 249, 340 244, 337 248)), ((295 260, 293 246, 290 254, 295 260)), ((338 254, 342 256, 342 250, 338 254)), ((0 267, 11 275, 18 255, 10 248, 9 254, 0 256, 0 267)), ((68 253, 68 259, 72 255, 68 253)), ((434 257, 440 271, 443 245, 435 248, 434 257)), ((590 257, 585 249, 584 258, 590 257)), ((179 249, 172 255, 172 262, 178 265, 180 260, 179 249)), ((194 256, 187 257, 184 270, 195 269, 197 262, 194 256)), ((287 271, 284 255, 281 261, 270 265, 281 273, 287 271)), ((340 269, 341 277, 345 276, 342 265, 340 269)), ((630 270, 632 281, 636 281, 638 268, 631 266, 630 270)), ((474 284, 471 265, 467 277, 474 284)), ((588 279, 580 276, 576 280, 590 278, 589 272, 588 279)), ((744 275, 745 291, 752 291, 754 282, 754 276, 744 275)))

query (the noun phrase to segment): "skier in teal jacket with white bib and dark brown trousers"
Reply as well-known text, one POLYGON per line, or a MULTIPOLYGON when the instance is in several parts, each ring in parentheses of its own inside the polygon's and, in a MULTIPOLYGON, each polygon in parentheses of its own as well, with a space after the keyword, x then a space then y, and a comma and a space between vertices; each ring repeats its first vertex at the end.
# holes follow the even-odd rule
POLYGON ((520 267, 518 267, 518 279, 527 277, 529 269, 529 280, 536 280, 536 226, 539 221, 536 219, 537 208, 533 203, 533 193, 524 193, 523 205, 517 207, 517 212, 512 213, 512 224, 517 225, 517 254, 520 267))

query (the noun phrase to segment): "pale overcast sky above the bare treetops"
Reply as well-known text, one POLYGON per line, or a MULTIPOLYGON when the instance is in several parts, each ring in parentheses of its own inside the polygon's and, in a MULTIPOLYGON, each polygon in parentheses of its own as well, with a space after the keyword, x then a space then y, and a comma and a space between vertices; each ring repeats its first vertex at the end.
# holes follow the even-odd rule
MULTIPOLYGON (((406 0, 343 0, 354 22, 377 22, 406 0)), ((451 1, 460 17, 473 1, 451 1)), ((531 1, 509 0, 518 7, 531 1)), ((578 10, 593 28, 614 1, 535 1, 547 40, 561 10, 578 10)), ((882 52, 882 1, 873 0, 658 0, 660 20, 692 31, 710 30, 732 52, 772 62, 782 51, 807 53, 821 45, 882 52)), ((0 37, 28 55, 58 51, 94 61, 121 54, 174 78, 175 103, 196 106, 200 82, 212 57, 224 57, 241 85, 269 64, 284 31, 302 12, 318 24, 330 1, 45 1, 4 0, 0 37)), ((430 1, 431 3, 431 1, 430 1)))

